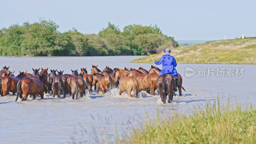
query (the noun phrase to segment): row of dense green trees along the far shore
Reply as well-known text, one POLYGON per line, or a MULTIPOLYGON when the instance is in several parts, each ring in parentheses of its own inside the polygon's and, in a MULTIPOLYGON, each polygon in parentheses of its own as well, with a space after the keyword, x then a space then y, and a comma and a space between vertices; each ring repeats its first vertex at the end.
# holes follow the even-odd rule
POLYGON ((162 34, 157 26, 128 25, 123 32, 108 23, 98 34, 82 34, 75 28, 64 33, 52 20, 23 25, 13 24, 0 30, 1 56, 108 56, 145 55, 177 47, 173 37, 162 34))

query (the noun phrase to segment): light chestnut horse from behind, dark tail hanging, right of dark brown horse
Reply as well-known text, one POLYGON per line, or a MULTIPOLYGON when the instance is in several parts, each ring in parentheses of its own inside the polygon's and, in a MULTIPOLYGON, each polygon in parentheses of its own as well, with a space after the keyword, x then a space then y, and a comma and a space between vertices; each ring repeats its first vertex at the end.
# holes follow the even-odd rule
POLYGON ((80 76, 73 76, 70 80, 70 88, 72 93, 72 99, 75 98, 76 94, 76 100, 78 92, 80 93, 80 97, 83 97, 84 94, 84 88, 85 88, 85 81, 80 76))

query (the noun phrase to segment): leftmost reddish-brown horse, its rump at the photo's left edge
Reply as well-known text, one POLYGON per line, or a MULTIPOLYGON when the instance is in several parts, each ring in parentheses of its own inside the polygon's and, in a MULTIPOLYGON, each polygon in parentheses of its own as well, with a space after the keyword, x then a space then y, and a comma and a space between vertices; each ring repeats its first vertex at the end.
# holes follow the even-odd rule
POLYGON ((0 89, 3 90, 1 96, 6 96, 9 92, 12 92, 12 95, 17 92, 17 84, 23 77, 26 77, 26 72, 20 72, 18 76, 4 76, 0 80, 0 89))

